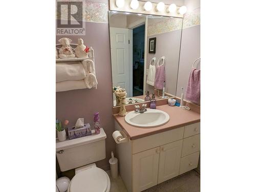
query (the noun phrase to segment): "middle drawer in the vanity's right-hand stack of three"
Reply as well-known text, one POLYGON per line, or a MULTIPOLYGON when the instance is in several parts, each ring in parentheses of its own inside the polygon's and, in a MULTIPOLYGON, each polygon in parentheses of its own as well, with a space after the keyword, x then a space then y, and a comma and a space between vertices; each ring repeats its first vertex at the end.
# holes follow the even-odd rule
POLYGON ((181 157, 200 151, 200 134, 183 139, 181 157))

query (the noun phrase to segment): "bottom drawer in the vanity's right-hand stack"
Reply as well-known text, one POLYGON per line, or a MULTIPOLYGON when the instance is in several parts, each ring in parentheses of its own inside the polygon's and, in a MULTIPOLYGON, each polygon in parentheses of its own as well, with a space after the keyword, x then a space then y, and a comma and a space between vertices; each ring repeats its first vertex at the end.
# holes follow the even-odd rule
POLYGON ((179 175, 188 172, 198 166, 200 152, 196 152, 194 154, 188 155, 186 157, 182 157, 180 160, 180 172, 179 175))

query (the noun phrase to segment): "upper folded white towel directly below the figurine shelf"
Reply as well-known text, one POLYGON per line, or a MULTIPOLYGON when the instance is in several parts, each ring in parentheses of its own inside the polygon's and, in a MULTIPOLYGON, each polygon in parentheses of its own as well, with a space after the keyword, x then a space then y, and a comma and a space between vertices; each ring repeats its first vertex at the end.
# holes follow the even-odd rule
POLYGON ((67 80, 81 80, 86 78, 86 72, 81 62, 56 63, 56 82, 67 80))

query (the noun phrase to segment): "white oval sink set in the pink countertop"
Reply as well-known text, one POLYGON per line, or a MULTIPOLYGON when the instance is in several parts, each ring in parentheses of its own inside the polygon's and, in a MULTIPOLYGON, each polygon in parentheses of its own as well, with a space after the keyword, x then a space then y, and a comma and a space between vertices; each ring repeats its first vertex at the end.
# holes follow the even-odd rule
POLYGON ((144 113, 135 113, 134 111, 127 113, 124 119, 133 126, 151 128, 167 123, 170 117, 164 111, 147 109, 144 113))

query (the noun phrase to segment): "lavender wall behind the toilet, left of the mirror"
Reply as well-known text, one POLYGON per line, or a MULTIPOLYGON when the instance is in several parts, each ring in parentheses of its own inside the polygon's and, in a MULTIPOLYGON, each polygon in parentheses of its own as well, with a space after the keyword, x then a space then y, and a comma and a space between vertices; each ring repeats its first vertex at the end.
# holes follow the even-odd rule
MULTIPOLYGON (((77 43, 83 38, 84 44, 92 46, 95 54, 95 68, 98 80, 97 89, 72 90, 56 93, 56 118, 62 122, 69 119, 74 125, 78 118, 94 127, 93 114, 100 113, 101 125, 106 133, 106 159, 97 162, 97 166, 108 168, 111 151, 115 153, 114 119, 112 117, 112 76, 110 57, 109 24, 86 22, 85 36, 69 36, 77 43)), ((57 40, 61 36, 56 36, 57 40)))

